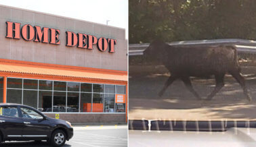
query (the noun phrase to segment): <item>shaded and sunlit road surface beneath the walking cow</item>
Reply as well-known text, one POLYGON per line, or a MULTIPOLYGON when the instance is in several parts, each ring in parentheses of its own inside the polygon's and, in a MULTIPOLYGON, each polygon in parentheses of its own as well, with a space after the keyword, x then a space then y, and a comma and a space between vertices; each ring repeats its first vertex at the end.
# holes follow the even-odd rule
MULTIPOLYGON (((255 62, 256 63, 256 62, 255 62)), ((256 119, 256 65, 243 66, 242 74, 253 98, 245 98, 238 82, 229 74, 225 86, 212 100, 198 100, 182 80, 175 80, 158 96, 170 76, 163 66, 129 67, 129 119, 149 120, 252 120, 256 119)), ((196 92, 206 99, 215 88, 215 79, 190 78, 196 92)))

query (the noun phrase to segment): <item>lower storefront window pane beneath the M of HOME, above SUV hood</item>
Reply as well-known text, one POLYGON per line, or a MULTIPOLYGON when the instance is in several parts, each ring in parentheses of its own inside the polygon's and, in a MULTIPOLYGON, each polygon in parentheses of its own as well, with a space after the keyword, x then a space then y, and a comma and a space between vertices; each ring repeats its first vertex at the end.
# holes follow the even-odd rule
POLYGON ((39 91, 39 105, 38 110, 42 112, 51 112, 52 92, 39 91))

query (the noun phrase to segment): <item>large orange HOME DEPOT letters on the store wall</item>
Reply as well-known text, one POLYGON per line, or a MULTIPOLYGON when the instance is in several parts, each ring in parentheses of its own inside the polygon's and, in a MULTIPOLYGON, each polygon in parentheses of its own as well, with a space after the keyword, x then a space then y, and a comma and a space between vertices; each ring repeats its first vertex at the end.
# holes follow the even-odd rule
MULTIPOLYGON (((31 26, 24 24, 21 27, 17 22, 6 22, 6 38, 23 38, 26 41, 33 40, 34 42, 50 43, 60 45, 60 30, 55 28, 47 28, 40 26, 31 26)), ((97 38, 96 36, 83 33, 74 33, 66 31, 66 46, 78 47, 81 49, 93 49, 93 45, 97 45, 99 51, 107 51, 114 53, 114 45, 116 39, 112 38, 97 38)))

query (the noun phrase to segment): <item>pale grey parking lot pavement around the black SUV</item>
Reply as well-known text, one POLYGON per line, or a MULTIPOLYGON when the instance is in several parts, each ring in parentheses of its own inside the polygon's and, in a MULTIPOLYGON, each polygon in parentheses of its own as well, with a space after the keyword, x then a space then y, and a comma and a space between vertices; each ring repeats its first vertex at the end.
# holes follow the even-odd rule
MULTIPOLYGON (((46 142, 5 142, 2 146, 48 146, 46 142)), ((127 125, 75 126, 74 136, 64 146, 127 146, 127 125)))

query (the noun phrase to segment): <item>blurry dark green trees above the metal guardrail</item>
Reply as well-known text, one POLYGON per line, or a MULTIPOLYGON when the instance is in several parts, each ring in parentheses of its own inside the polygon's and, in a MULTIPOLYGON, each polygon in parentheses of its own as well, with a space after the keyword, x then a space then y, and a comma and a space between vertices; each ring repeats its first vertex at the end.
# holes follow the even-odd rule
POLYGON ((130 0, 129 43, 256 38, 256 1, 130 0))

